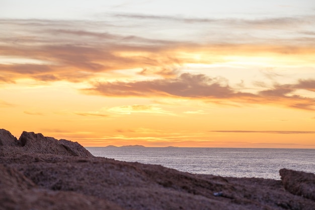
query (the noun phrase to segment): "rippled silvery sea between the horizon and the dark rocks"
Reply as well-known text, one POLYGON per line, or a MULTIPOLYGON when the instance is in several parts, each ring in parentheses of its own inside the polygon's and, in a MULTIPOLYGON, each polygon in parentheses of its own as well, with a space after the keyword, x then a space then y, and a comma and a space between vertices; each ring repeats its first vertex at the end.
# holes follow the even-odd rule
POLYGON ((162 165, 183 172, 280 179, 281 168, 315 173, 315 150, 244 148, 102 148, 94 156, 162 165))

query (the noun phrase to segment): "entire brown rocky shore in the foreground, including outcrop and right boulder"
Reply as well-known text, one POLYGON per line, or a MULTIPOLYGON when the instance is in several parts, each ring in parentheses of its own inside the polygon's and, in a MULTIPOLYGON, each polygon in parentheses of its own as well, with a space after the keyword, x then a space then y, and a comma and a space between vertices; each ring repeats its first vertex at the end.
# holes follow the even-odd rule
POLYGON ((179 172, 94 157, 78 143, 0 129, 2 209, 315 209, 315 175, 281 179, 179 172))

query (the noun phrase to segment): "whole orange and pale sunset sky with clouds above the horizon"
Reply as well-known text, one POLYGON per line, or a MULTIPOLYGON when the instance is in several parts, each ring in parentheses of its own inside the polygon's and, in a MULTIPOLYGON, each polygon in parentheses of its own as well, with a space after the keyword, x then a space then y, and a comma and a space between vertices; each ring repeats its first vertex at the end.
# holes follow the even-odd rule
POLYGON ((315 149, 311 0, 0 0, 0 128, 85 147, 315 149))

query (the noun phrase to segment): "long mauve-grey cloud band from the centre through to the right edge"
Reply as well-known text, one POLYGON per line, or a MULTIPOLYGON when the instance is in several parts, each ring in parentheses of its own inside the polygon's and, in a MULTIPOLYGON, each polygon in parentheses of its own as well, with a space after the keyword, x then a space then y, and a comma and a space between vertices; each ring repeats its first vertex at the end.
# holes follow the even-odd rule
POLYGON ((300 80, 296 84, 274 85, 256 94, 236 91, 224 79, 203 74, 184 73, 177 78, 164 78, 135 82, 95 83, 92 88, 82 89, 86 94, 112 97, 178 97, 208 100, 222 103, 280 104, 287 107, 315 110, 315 99, 292 95, 296 90, 312 89, 312 80, 300 80), (221 102, 218 102, 221 101, 221 102))

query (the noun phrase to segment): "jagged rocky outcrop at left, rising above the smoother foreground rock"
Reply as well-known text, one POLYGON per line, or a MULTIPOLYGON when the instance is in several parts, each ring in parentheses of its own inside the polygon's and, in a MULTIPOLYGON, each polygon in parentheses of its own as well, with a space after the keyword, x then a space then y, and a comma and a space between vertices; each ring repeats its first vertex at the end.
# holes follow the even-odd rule
POLYGON ((9 131, 0 129, 0 156, 6 154, 54 154, 62 156, 93 157, 84 147, 76 142, 53 137, 46 137, 41 133, 23 131, 19 140, 9 131))

